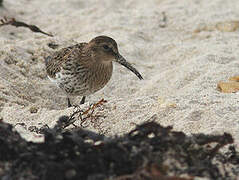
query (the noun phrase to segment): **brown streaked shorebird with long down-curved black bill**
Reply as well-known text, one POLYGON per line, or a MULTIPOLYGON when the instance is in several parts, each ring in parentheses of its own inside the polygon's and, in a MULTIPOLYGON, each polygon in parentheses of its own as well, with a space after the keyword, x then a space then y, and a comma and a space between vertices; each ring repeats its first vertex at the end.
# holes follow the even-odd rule
POLYGON ((45 59, 48 78, 62 89, 71 107, 72 96, 85 97, 102 89, 110 80, 115 61, 135 73, 141 74, 120 55, 117 43, 107 36, 98 36, 89 43, 79 43, 60 49, 45 59))

